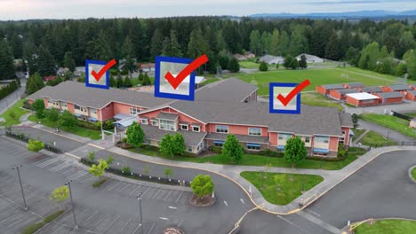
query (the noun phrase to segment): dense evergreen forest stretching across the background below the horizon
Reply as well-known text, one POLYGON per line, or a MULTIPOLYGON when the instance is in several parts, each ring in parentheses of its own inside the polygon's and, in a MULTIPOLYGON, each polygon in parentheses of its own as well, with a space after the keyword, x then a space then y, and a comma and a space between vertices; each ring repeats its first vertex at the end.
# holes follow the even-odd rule
POLYGON ((0 79, 8 79, 12 58, 41 76, 56 66, 84 66, 85 59, 154 61, 157 55, 196 58, 206 53, 205 67, 224 69, 233 53, 313 54, 345 60, 387 74, 408 69, 416 79, 416 23, 389 20, 257 20, 225 17, 163 19, 30 20, 0 22, 0 79), (412 51, 413 50, 413 51, 412 51), (406 65, 395 59, 406 60, 406 65))

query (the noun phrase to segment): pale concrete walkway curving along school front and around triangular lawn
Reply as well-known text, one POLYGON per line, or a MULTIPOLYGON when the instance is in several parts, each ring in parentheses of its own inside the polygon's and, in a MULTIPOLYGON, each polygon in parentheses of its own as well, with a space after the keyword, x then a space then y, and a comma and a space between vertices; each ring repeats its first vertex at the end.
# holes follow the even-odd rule
MULTIPOLYGON (((104 149, 100 146, 100 141, 92 141, 90 139, 85 139, 85 137, 75 136, 66 132, 56 133, 53 129, 44 127, 44 126, 35 126, 36 129, 42 129, 48 131, 55 135, 65 136, 70 139, 83 142, 84 144, 89 144, 96 148, 104 149)), ((219 165, 219 164, 210 164, 210 163, 193 163, 187 161, 178 161, 178 160, 165 160, 158 157, 151 157, 143 155, 140 153, 129 152, 118 147, 112 147, 107 149, 110 152, 115 152, 125 157, 132 158, 134 160, 147 161, 150 163, 162 164, 172 167, 181 167, 181 168, 196 168, 204 171, 210 171, 218 175, 223 175, 230 179, 231 181, 238 184, 245 193, 252 199, 252 203, 257 206, 264 204, 264 210, 269 213, 274 214, 292 214, 300 211, 303 207, 307 207, 314 200, 319 199, 327 191, 330 191, 337 184, 341 183, 343 180, 348 178, 349 175, 354 174, 358 169, 363 168, 367 163, 377 158, 382 153, 394 152, 394 151, 416 151, 416 146, 389 146, 372 149, 372 151, 365 153, 362 156, 359 156, 357 160, 350 163, 345 168, 340 170, 323 170, 323 169, 300 169, 300 168, 269 168, 268 172, 274 173, 295 173, 295 174, 307 174, 307 175, 320 175, 324 177, 324 182, 317 184, 313 189, 303 193, 298 199, 294 199, 290 204, 286 206, 277 206, 271 203, 268 203, 266 199, 263 198, 260 191, 258 191, 252 183, 246 181, 240 173, 243 171, 256 171, 260 172, 264 170, 264 167, 255 167, 255 166, 232 166, 232 165, 219 165), (303 207, 300 207, 300 203, 303 204, 303 207)))

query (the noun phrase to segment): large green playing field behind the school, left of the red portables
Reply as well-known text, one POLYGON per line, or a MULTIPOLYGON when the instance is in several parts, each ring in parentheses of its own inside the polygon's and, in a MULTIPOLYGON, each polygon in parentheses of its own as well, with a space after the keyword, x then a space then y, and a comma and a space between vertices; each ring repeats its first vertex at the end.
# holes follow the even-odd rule
POLYGON ((395 77, 392 75, 371 73, 371 75, 380 77, 382 79, 376 79, 369 77, 368 72, 359 68, 328 68, 328 69, 305 69, 305 70, 275 70, 268 72, 257 72, 252 74, 234 74, 234 76, 243 80, 244 82, 252 82, 253 80, 258 83, 259 95, 268 95, 268 83, 269 82, 303 82, 305 79, 309 79, 311 85, 305 90, 315 90, 316 85, 319 84, 331 84, 341 82, 362 82, 365 85, 387 85, 395 82, 395 77), (348 71, 363 73, 352 74, 348 71), (348 73, 349 78, 342 78, 341 74, 348 73), (367 75, 365 75, 367 74, 367 75))

